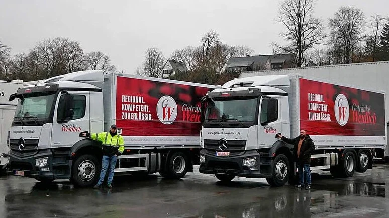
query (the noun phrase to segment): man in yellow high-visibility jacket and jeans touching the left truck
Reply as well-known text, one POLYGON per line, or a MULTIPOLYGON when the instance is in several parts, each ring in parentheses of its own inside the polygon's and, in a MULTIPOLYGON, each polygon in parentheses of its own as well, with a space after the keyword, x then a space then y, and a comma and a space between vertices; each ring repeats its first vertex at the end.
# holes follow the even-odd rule
POLYGON ((103 143, 103 161, 102 171, 100 172, 99 182, 93 188, 100 188, 103 184, 108 168, 107 187, 112 188, 112 180, 114 178, 114 170, 118 156, 124 151, 124 140, 116 130, 116 125, 113 124, 109 132, 102 133, 83 133, 82 136, 90 137, 93 140, 103 143))

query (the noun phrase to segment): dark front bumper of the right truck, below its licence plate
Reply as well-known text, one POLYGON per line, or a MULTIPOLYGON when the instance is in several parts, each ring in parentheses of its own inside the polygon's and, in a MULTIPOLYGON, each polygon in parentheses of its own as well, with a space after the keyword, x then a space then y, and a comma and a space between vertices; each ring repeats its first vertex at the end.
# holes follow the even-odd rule
POLYGON ((246 178, 270 178, 271 160, 261 157, 256 150, 244 151, 242 154, 219 157, 205 149, 200 151, 200 155, 205 156, 205 162, 200 164, 199 171, 204 174, 228 174, 246 178), (243 159, 256 157, 255 166, 243 165, 243 159))

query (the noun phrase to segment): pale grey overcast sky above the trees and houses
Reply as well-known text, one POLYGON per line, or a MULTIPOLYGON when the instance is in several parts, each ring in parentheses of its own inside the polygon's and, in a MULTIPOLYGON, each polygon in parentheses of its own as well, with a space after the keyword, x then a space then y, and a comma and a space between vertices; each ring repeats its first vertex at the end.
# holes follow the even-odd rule
MULTIPOLYGON (((366 17, 389 16, 388 0, 318 0, 315 14, 323 20, 341 6, 361 9, 366 17)), ((134 73, 147 48, 168 58, 172 51, 197 46, 209 30, 223 43, 244 45, 255 54, 271 54, 272 41, 284 30, 276 23, 279 1, 33 1, 0 0, 0 41, 12 54, 28 53, 40 40, 68 37, 84 52, 100 50, 118 70, 134 73)))

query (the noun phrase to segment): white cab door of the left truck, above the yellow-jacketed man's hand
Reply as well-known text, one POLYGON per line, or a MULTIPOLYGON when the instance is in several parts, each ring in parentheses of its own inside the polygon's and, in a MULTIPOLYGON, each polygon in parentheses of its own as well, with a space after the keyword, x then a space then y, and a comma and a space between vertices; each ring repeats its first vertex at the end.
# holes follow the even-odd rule
POLYGON ((71 147, 82 138, 79 133, 89 131, 89 92, 87 91, 68 91, 58 95, 56 110, 54 111, 53 130, 51 136, 51 147, 71 147), (62 95, 73 95, 73 115, 68 122, 62 123, 58 120, 61 108, 62 95), (61 107, 61 106, 59 106, 61 107))

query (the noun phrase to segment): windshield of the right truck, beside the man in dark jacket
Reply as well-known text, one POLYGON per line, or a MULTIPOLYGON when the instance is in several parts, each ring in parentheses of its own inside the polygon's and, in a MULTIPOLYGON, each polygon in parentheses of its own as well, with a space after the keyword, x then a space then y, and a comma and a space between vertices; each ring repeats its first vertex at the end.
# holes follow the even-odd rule
POLYGON ((238 121, 254 122, 256 119, 256 109, 258 98, 251 99, 220 99, 212 100, 208 103, 205 122, 238 121))

